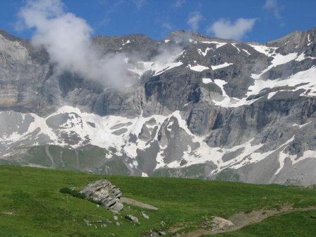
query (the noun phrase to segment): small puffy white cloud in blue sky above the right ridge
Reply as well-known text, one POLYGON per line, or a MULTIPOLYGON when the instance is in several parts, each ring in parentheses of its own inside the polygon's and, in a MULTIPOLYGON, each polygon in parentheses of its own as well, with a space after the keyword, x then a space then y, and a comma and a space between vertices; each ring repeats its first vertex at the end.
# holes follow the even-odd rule
POLYGON ((245 34, 254 27, 256 18, 239 18, 235 22, 228 19, 220 19, 213 23, 208 29, 207 34, 214 34, 223 39, 242 39, 245 34))

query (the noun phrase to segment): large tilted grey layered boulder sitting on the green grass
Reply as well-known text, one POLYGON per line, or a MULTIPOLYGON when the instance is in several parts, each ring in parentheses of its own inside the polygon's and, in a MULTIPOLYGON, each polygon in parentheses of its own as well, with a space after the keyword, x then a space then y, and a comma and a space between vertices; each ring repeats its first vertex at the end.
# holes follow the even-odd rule
POLYGON ((80 191, 86 196, 86 199, 102 203, 105 208, 119 212, 124 208, 119 200, 121 198, 121 191, 108 180, 97 180, 88 184, 80 191))

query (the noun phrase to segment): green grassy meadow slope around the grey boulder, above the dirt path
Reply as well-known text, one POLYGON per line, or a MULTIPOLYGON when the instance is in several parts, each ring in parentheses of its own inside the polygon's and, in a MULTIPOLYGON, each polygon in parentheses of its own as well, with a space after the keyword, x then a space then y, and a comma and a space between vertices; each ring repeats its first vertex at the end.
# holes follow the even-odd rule
MULTIPOLYGON (((316 206, 315 189, 275 184, 119 177, 10 165, 0 165, 0 180, 0 236, 146 236, 151 229, 166 231, 167 236, 171 236, 171 227, 184 226, 185 231, 200 229, 202 222, 211 219, 212 215, 225 218, 235 212, 282 205, 316 206), (59 191, 64 187, 81 189, 99 179, 110 180, 121 189, 124 197, 149 203, 159 210, 124 204, 118 220, 120 226, 117 226, 112 212, 59 191), (142 211, 150 219, 143 218, 142 211), (140 224, 124 218, 129 214, 138 217, 140 224), (86 221, 102 223, 87 225, 86 221)), ((300 215, 305 214, 302 213, 296 221, 303 220, 300 215)), ((273 218, 283 217, 286 215, 273 218)), ((272 226, 275 221, 270 218, 262 224, 272 226)), ((281 226, 278 228, 282 229, 281 226)), ((304 229, 312 228, 315 229, 315 219, 304 225, 304 229)), ((250 229, 238 232, 236 236, 256 236, 256 233, 250 229)), ((272 233, 272 236, 275 235, 272 233)))

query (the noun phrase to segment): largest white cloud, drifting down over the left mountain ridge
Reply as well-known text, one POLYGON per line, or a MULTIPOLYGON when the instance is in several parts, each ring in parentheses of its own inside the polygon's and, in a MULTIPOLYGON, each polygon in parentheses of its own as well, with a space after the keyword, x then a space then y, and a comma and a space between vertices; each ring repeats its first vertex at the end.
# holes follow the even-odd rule
POLYGON ((27 29, 34 29, 32 43, 44 46, 57 73, 68 71, 120 88, 131 83, 125 55, 101 55, 91 41, 86 20, 65 12, 60 0, 27 1, 18 13, 27 29))

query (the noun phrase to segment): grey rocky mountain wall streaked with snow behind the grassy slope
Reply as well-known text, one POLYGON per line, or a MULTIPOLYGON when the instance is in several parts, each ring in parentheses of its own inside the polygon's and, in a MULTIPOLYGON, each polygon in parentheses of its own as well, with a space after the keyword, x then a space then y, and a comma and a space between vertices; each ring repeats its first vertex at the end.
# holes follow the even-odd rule
POLYGON ((253 183, 316 182, 316 28, 261 45, 96 36, 136 83, 55 73, 0 32, 0 163, 253 183))

